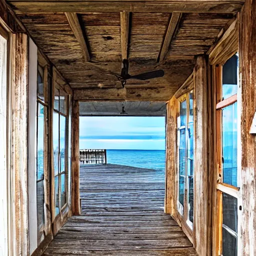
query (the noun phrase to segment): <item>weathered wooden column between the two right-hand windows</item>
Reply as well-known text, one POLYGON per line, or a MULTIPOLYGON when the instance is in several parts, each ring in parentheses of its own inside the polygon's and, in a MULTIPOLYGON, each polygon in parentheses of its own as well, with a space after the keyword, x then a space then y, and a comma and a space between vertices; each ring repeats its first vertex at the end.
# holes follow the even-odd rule
POLYGON ((198 56, 196 59, 194 93, 194 246, 199 255, 208 255, 208 97, 204 56, 198 56))

